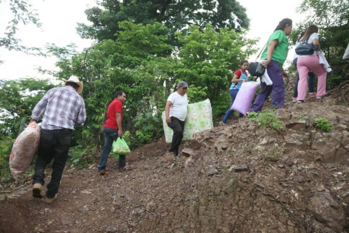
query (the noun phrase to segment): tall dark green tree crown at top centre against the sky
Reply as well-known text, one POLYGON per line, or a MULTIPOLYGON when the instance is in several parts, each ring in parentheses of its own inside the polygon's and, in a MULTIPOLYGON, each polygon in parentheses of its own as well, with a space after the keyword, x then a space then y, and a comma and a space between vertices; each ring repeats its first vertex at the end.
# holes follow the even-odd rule
MULTIPOLYGON (((78 33, 83 38, 116 39, 119 22, 131 21, 144 25, 163 23, 171 35, 189 25, 214 28, 248 28, 246 9, 235 0, 103 0, 99 7, 85 11, 92 26, 79 23, 78 33)), ((172 36, 170 36, 173 42, 172 36)), ((173 43, 172 43, 173 44, 173 43)))

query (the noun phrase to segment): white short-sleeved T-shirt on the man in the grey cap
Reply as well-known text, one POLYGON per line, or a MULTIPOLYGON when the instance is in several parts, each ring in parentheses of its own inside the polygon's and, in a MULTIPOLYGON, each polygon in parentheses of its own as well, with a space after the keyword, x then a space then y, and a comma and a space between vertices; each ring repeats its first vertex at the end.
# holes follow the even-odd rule
POLYGON ((188 96, 184 94, 183 96, 178 94, 178 92, 173 92, 168 98, 167 101, 171 101, 172 105, 170 107, 170 117, 174 116, 185 121, 187 117, 187 108, 188 108, 188 96))

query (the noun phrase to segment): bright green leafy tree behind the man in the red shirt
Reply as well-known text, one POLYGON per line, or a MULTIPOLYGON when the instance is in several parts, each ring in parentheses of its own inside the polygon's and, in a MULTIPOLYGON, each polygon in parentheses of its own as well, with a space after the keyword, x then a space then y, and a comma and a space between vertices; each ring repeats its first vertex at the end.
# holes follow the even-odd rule
POLYGON ((166 43, 168 29, 161 23, 143 26, 129 21, 120 22, 119 28, 115 41, 105 39, 82 53, 75 53, 72 48, 49 46, 60 59, 57 77, 67 78, 73 74, 81 77, 85 85, 82 95, 87 120, 82 134, 76 130, 82 143, 101 145, 99 130, 116 90, 127 95, 124 130, 135 134, 143 129, 144 133, 152 132, 151 137, 162 131, 159 124, 155 124, 158 121, 153 119, 159 119, 158 111, 164 106, 166 91, 163 84, 173 77, 175 61, 170 57, 172 46, 166 43), (155 118, 140 122, 142 117, 139 116, 149 116, 149 112, 155 118))

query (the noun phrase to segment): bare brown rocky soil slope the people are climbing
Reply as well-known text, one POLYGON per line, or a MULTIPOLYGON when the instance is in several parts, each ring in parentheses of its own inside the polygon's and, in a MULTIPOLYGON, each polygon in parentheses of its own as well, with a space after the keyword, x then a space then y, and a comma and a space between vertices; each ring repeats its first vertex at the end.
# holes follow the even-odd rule
POLYGON ((132 151, 130 171, 112 156, 105 176, 69 167, 52 205, 24 183, 0 202, 0 232, 349 232, 349 108, 339 96, 287 102, 279 131, 231 119, 184 142, 176 159, 161 138, 132 151), (331 132, 315 127, 319 116, 331 132))

